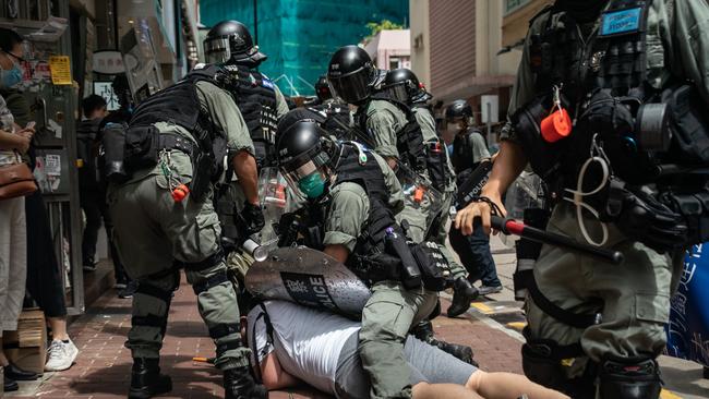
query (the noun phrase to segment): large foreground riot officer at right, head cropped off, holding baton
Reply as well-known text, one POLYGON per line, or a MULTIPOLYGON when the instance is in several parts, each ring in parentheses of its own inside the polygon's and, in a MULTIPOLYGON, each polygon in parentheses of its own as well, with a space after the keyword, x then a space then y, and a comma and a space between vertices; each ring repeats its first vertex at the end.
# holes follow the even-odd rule
POLYGON ((656 358, 683 250, 708 238, 706 174, 678 172, 709 161, 708 17, 701 0, 543 10, 525 40, 509 134, 480 201, 456 217, 464 233, 478 217, 488 231, 529 162, 556 202, 549 230, 625 255, 612 265, 543 246, 527 283, 525 373, 574 398, 660 395, 656 358))

